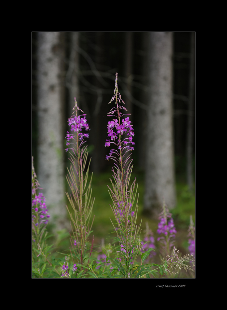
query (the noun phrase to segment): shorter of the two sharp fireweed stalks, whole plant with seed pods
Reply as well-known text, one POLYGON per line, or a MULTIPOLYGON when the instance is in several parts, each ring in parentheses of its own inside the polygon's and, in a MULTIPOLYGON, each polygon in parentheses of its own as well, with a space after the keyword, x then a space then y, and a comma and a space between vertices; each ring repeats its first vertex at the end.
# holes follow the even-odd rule
POLYGON ((84 173, 88 158, 87 145, 84 145, 84 143, 87 141, 84 139, 88 138, 89 135, 88 133, 83 132, 83 130, 85 129, 88 131, 90 128, 85 117, 86 114, 78 115, 79 111, 82 113, 84 112, 78 107, 76 97, 74 100, 75 107, 73 108, 73 113, 75 113, 75 115, 68 119, 69 126, 71 127, 71 131, 73 131, 74 134, 70 134, 67 131, 66 135, 66 146, 68 146, 68 148, 66 148, 66 152, 69 149, 72 151, 69 158, 71 161, 70 169, 67 168, 68 174, 66 176, 72 194, 69 195, 66 193, 66 195, 74 211, 74 216, 69 211, 67 205, 66 208, 69 211, 71 217, 70 223, 73 234, 73 237, 71 236, 72 251, 75 255, 75 258, 77 259, 77 262, 80 264, 82 271, 84 270, 84 265, 89 262, 93 248, 94 236, 91 246, 89 246, 88 237, 91 233, 91 228, 94 221, 93 218, 92 224, 90 224, 90 217, 95 199, 91 197, 92 176, 90 182, 88 183, 88 172, 91 159, 89 161, 87 171, 84 173))

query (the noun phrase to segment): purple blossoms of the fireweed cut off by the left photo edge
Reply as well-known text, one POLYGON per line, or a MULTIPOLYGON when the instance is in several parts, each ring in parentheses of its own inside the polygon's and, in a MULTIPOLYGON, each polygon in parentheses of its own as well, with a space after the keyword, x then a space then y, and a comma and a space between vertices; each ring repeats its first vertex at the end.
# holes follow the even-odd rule
MULTIPOLYGON (((32 214, 32 222, 34 223, 35 219, 36 219, 36 224, 35 226, 38 226, 38 224, 42 224, 44 222, 44 224, 48 224, 48 219, 49 218, 49 214, 48 214, 48 209, 46 208, 46 204, 45 204, 45 197, 43 196, 43 193, 39 193, 38 196, 35 196, 35 198, 32 200, 32 209, 35 211, 35 214, 32 214), (38 223, 38 216, 39 218, 42 219, 40 221, 40 223, 38 223)), ((33 211, 33 213, 34 213, 33 211)))

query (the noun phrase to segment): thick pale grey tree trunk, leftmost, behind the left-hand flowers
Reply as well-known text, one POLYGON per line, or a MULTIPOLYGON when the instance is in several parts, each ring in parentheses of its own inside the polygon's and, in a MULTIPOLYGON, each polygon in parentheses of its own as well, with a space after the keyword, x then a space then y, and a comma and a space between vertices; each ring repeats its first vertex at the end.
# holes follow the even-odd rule
MULTIPOLYGON (((65 228, 63 166, 64 33, 37 33, 38 180, 46 197, 54 231, 65 228)), ((67 221, 68 222, 68 221, 67 221)))

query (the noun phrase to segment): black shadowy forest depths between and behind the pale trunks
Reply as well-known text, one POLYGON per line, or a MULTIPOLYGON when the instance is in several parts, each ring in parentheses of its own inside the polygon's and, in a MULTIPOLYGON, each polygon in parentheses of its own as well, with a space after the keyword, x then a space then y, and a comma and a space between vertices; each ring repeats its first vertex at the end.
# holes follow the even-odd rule
MULTIPOLYGON (((105 160, 105 156, 109 154, 109 148, 105 148, 104 144, 107 139, 108 119, 106 115, 110 110, 108 102, 113 96, 116 72, 118 73, 118 91, 129 113, 132 113, 131 120, 134 124, 136 147, 132 153, 133 171, 143 174, 146 170, 147 97, 149 95, 148 35, 147 32, 60 33, 60 43, 57 48, 59 48, 62 61, 60 72, 62 147, 64 148, 64 137, 68 130, 67 119, 72 115, 74 96, 76 96, 79 107, 87 114, 91 128, 88 150, 89 155, 92 156, 91 171, 96 175, 109 172, 113 166, 113 162, 105 160), (74 44, 77 46, 75 53, 72 52, 74 44), (72 94, 73 90, 77 93, 72 94)), ((190 94, 190 79, 192 83, 195 82, 195 73, 190 69, 193 40, 195 40, 193 32, 173 33, 174 171, 176 180, 183 183, 189 182, 189 173, 192 173, 193 182, 195 179, 195 94, 190 94), (191 105, 190 96, 193 96, 191 105), (192 135, 190 142, 187 138, 189 131, 192 135), (191 148, 191 170, 188 169, 190 165, 187 158, 188 147, 191 148)), ((32 156, 34 156, 34 166, 39 179, 38 48, 38 33, 32 32, 32 156)), ((68 154, 64 152, 63 156, 64 174, 66 174, 68 154)), ((41 186, 43 187, 42 184, 41 186)), ((188 184, 188 186, 190 189, 191 185, 188 184)))

